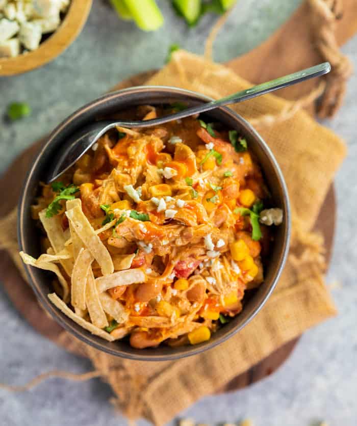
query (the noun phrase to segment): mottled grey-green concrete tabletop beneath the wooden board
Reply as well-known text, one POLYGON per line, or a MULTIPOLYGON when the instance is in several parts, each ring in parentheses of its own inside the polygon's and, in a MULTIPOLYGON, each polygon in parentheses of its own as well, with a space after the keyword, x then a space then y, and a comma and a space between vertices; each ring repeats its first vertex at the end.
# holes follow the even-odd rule
MULTIPOLYGON (((28 74, 0 78, 0 115, 14 100, 28 101, 33 108, 32 116, 21 122, 0 122, 0 171, 84 102, 126 76, 161 66, 170 43, 180 42, 189 50, 202 52, 213 18, 207 16, 196 29, 187 30, 165 0, 159 3, 166 24, 157 33, 144 34, 130 23, 118 21, 104 3, 95 0, 84 31, 60 58, 28 74)), ((216 59, 228 60, 259 44, 299 3, 241 1, 215 44, 216 59)), ((357 37, 343 50, 357 68, 357 37)), ((357 77, 353 76, 343 108, 333 121, 325 123, 345 138, 349 150, 336 178, 338 225, 328 274, 329 282, 342 283, 341 288, 331 290, 339 315, 306 332, 289 360, 268 379, 231 394, 203 398, 181 416, 211 424, 235 422, 245 416, 256 426, 303 426, 319 419, 330 426, 357 424, 356 99, 357 77)), ((89 361, 38 335, 16 312, 1 287, 0 324, 0 382, 23 384, 51 369, 91 369, 89 361)), ((74 383, 51 379, 29 392, 0 390, 0 426, 125 424, 108 402, 110 397, 110 388, 99 380, 74 383)), ((140 426, 144 424, 139 421, 140 426)))

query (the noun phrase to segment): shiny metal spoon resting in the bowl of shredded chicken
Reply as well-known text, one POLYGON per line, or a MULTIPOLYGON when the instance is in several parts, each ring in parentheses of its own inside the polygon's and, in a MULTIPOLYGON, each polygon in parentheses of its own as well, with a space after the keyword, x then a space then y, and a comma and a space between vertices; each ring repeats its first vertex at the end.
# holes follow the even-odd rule
POLYGON ((96 121, 81 128, 77 133, 72 135, 66 144, 61 148, 54 158, 54 166, 49 168, 47 173, 46 183, 53 182, 63 172, 68 170, 75 162, 81 158, 81 156, 88 151, 88 149, 109 129, 121 126, 121 127, 152 127, 163 123, 167 123, 172 120, 185 118, 194 114, 204 113, 206 111, 213 110, 223 105, 229 105, 231 103, 242 102, 247 99, 251 99, 265 93, 273 92, 274 90, 282 89, 283 87, 291 86, 293 84, 302 82, 309 78, 318 77, 326 74, 331 70, 331 66, 328 62, 316 65, 311 68, 307 68, 293 74, 285 75, 284 77, 275 78, 267 83, 262 83, 257 86, 253 86, 247 90, 241 90, 240 92, 234 93, 233 95, 226 96, 225 98, 218 99, 212 102, 203 103, 197 107, 188 108, 183 111, 179 111, 174 114, 166 115, 164 117, 155 118, 153 120, 146 121, 96 121))

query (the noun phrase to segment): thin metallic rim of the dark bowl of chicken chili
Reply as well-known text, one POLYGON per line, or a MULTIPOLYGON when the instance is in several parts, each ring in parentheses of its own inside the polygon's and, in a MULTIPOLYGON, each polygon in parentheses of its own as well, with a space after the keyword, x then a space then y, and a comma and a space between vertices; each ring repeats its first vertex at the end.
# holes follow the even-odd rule
MULTIPOLYGON (((47 142, 43 145, 43 147, 40 149, 36 157, 34 158, 33 163, 29 167, 29 171, 27 173, 27 176, 24 179, 24 184, 20 193, 19 202, 18 202, 18 221, 17 221, 17 237, 18 237, 18 243, 19 243, 19 249, 24 251, 24 235, 25 235, 25 229, 24 229, 24 215, 25 215, 25 200, 27 199, 27 193, 28 193, 28 187, 29 183, 32 179, 32 176, 34 174, 34 171, 37 169, 40 159, 43 155, 43 153, 48 149, 50 144, 52 144, 53 140, 60 134, 60 132, 72 121, 77 119, 82 114, 85 114, 87 111, 92 110, 93 108, 97 107, 98 105, 102 103, 106 103, 108 101, 114 100, 117 97, 120 97, 121 95, 128 95, 128 94, 135 94, 138 92, 167 92, 168 94, 178 94, 178 95, 187 95, 192 98, 195 98, 198 101, 212 101, 213 99, 202 95, 197 92, 193 92, 186 89, 180 89, 176 87, 170 87, 170 86, 136 86, 136 87, 130 87, 127 89, 118 90, 115 92, 110 92, 108 94, 102 95, 96 99, 94 99, 91 102, 86 103, 83 105, 83 107, 79 108, 78 110, 74 111, 72 114, 70 114, 67 118, 65 118, 54 130, 53 132, 48 136, 47 142)), ((149 101, 148 101, 149 102, 149 101)), ((227 107, 219 107, 219 110, 222 110, 225 114, 233 116, 235 120, 238 122, 241 122, 245 125, 245 127, 248 129, 250 134, 254 137, 254 139, 258 140, 261 148, 264 150, 265 154, 269 157, 269 161, 271 162, 274 172, 276 173, 276 176, 279 180, 279 184, 281 184, 282 187, 282 193, 283 193, 283 199, 282 204, 284 205, 285 209, 285 238, 283 241, 283 248, 282 248, 282 255, 281 255, 281 262, 278 264, 276 268, 276 274, 275 277, 272 279, 272 282, 270 284, 270 288, 266 292, 264 298, 261 300, 261 302, 253 308, 251 314, 245 318, 244 321, 241 322, 241 324, 238 324, 237 326, 233 327, 232 330, 227 331, 225 334, 220 336, 219 338, 215 340, 208 340, 206 342, 200 343, 198 345, 191 345, 187 346, 187 350, 182 353, 172 353, 172 354, 156 354, 156 355, 145 355, 143 352, 143 355, 137 355, 137 354, 131 354, 126 353, 120 350, 114 350, 108 347, 108 343, 104 339, 100 339, 100 342, 90 340, 89 337, 87 337, 87 334, 92 336, 91 333, 85 329, 82 329, 81 332, 79 332, 74 325, 77 325, 74 323, 70 318, 68 318, 70 321, 66 323, 62 315, 64 315, 55 305, 53 305, 47 295, 44 294, 44 292, 41 291, 40 287, 37 286, 37 280, 33 276, 33 269, 30 265, 24 264, 25 273, 28 277, 29 283, 32 287, 32 289, 35 292, 35 295, 40 302, 41 306, 52 316, 52 318, 60 324, 67 332, 71 333, 78 339, 80 339, 82 342, 87 343, 94 347, 97 350, 103 351, 107 354, 114 355, 121 358, 131 359, 131 360, 140 360, 140 361, 167 361, 167 360, 175 360, 180 359, 192 355, 197 355, 203 351, 207 351, 209 349, 212 349, 216 347, 218 344, 223 343, 230 337, 232 337, 234 334, 238 333, 243 327, 245 327, 253 318, 258 314, 258 312, 263 308, 267 300, 269 299, 272 291, 274 290, 278 279, 280 278, 282 271, 284 269, 286 259, 288 256, 289 251, 289 243, 290 243, 290 233, 291 233, 291 211, 290 211, 290 202, 289 202, 289 196, 288 196, 288 190, 286 187, 286 183, 284 180, 284 176, 282 174, 282 171, 271 152, 270 148, 266 144, 266 142, 262 139, 262 137, 258 134, 258 132, 239 114, 237 114, 235 111, 227 108, 227 107), (101 341, 103 340, 103 342, 101 341)), ((115 343, 115 342, 114 342, 115 343)), ((158 351, 160 351, 160 347, 157 348, 158 351)))

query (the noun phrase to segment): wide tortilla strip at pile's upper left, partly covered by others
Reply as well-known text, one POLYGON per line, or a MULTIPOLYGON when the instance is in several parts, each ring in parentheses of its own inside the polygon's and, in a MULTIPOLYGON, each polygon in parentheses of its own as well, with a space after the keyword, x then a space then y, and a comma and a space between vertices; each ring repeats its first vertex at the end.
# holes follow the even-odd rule
MULTIPOLYGON (((55 250, 55 253, 60 253, 65 248, 66 237, 62 229, 61 218, 59 216, 53 216, 52 218, 46 218, 46 209, 43 209, 38 214, 40 221, 46 231, 50 245, 55 250)), ((73 259, 61 260, 63 269, 70 277, 73 269, 73 259)))

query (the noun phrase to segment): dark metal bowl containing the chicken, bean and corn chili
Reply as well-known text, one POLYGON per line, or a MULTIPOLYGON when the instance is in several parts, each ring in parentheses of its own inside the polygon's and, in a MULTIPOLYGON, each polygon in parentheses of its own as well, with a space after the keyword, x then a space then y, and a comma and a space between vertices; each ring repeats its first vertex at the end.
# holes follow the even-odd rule
MULTIPOLYGON (((18 240, 20 249, 34 257, 41 254, 38 230, 31 218, 30 206, 34 202, 39 181, 45 170, 52 167, 54 154, 62 144, 66 143, 66 139, 74 131, 98 117, 108 116, 136 105, 162 104, 174 101, 184 101, 189 105, 197 105, 209 100, 211 99, 206 96, 187 90, 173 87, 144 86, 107 94, 74 112, 49 136, 25 180, 19 201, 18 240)), ((96 349, 111 355, 143 361, 171 360, 206 351, 230 338, 248 324, 263 307, 281 275, 288 253, 290 237, 289 199, 282 172, 266 143, 242 117, 227 108, 216 109, 208 113, 207 116, 212 121, 219 121, 228 128, 238 130, 239 134, 247 139, 249 148, 256 154, 260 162, 272 195, 273 205, 282 208, 284 211, 283 224, 274 229, 275 240, 267 260, 264 283, 244 303, 242 312, 230 323, 213 333, 209 341, 180 348, 161 345, 158 348, 138 350, 132 348, 127 341, 108 342, 94 336, 70 320, 47 298, 47 294, 53 291, 50 273, 25 265, 30 284, 43 308, 68 332, 96 349)))

